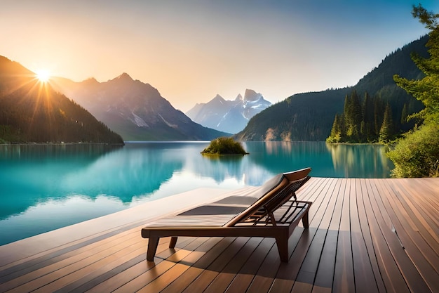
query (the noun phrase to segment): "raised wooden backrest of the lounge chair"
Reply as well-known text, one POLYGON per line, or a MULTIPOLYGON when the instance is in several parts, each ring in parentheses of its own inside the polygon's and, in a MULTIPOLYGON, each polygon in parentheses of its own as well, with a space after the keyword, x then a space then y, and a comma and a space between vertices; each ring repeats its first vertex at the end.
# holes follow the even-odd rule
POLYGON ((281 180, 278 181, 273 187, 255 203, 250 205, 241 214, 238 214, 234 219, 231 219, 225 226, 234 226, 240 221, 248 219, 250 216, 260 213, 262 210, 264 213, 267 207, 273 211, 281 207, 282 204, 290 200, 292 196, 295 196, 295 191, 298 190, 309 179, 309 172, 311 168, 305 168, 289 173, 281 174, 281 180))

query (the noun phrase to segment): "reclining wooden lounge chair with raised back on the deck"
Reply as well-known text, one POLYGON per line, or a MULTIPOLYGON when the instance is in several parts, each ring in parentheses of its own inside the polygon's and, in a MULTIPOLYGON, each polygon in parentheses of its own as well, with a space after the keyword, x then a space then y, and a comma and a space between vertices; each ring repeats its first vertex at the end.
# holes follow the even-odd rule
POLYGON ((288 238, 300 219, 308 228, 311 202, 298 201, 295 191, 309 179, 310 168, 279 174, 246 195, 232 195, 183 213, 167 216, 142 228, 149 238, 147 260, 154 261, 160 237, 273 237, 281 261, 288 262, 288 238))

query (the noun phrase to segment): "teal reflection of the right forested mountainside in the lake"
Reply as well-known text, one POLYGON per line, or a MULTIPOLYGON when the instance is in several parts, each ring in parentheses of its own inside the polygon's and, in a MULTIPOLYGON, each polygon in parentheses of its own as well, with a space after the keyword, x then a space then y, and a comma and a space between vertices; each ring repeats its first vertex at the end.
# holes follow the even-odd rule
POLYGON ((272 174, 311 167, 316 177, 388 178, 393 169, 382 145, 269 141, 245 146, 252 163, 272 174))

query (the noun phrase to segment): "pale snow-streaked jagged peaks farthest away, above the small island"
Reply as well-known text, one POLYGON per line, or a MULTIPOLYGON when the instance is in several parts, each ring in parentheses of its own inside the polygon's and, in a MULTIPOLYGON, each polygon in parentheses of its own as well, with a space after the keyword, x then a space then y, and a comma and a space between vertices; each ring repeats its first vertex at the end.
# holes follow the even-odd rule
POLYGON ((261 93, 246 89, 244 97, 238 94, 235 100, 225 100, 217 95, 208 103, 197 103, 186 115, 203 126, 236 134, 253 116, 270 105, 261 93))

